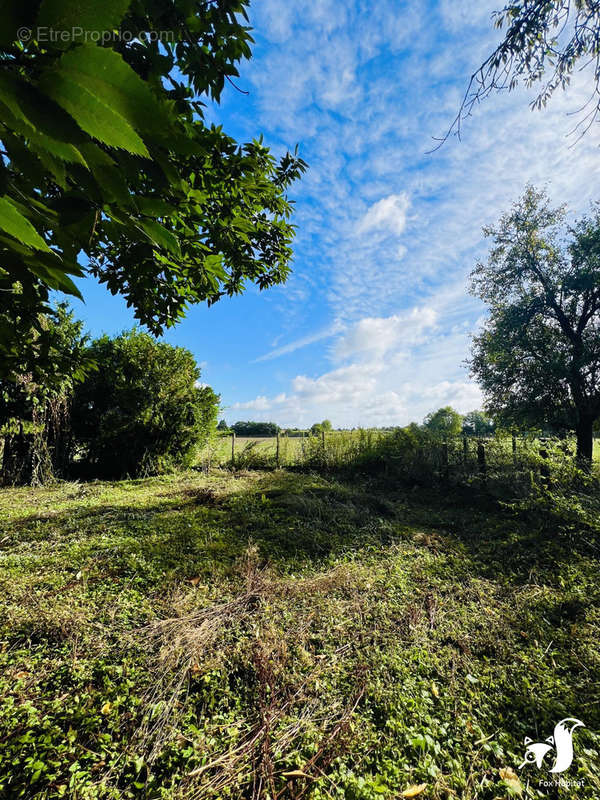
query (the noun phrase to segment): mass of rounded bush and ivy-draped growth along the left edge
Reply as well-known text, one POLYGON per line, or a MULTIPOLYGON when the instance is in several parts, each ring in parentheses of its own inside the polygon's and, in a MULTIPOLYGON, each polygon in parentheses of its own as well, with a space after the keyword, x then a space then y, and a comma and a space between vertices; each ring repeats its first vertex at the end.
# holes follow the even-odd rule
POLYGON ((200 385, 189 350, 138 329, 89 344, 61 306, 42 323, 50 347, 40 368, 0 380, 5 485, 150 475, 195 460, 214 433, 219 397, 200 385))

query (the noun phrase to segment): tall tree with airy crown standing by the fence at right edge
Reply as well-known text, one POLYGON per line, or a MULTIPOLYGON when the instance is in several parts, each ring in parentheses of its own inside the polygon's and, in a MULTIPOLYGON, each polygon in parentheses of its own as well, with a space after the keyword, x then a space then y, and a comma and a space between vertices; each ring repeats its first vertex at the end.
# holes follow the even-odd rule
POLYGON ((494 418, 575 430, 589 464, 600 416, 600 207, 571 228, 565 214, 530 186, 484 229, 493 246, 471 289, 489 316, 471 368, 494 418))

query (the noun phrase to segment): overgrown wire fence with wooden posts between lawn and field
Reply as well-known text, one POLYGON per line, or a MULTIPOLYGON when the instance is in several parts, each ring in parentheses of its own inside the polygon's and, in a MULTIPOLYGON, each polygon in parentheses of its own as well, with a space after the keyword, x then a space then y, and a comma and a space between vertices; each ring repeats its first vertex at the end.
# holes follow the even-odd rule
POLYGON ((496 435, 442 439, 422 429, 321 431, 272 438, 220 437, 203 466, 234 469, 353 470, 417 483, 470 485, 526 494, 566 487, 581 477, 571 439, 496 435))

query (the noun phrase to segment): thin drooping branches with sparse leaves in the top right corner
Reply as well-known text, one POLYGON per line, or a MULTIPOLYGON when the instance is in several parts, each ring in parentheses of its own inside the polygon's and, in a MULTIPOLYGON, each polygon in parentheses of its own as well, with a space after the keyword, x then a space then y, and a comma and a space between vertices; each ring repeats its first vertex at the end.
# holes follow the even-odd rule
POLYGON ((600 2, 598 0, 515 0, 493 15, 504 38, 471 75, 458 114, 444 137, 460 136, 461 124, 491 93, 514 89, 519 81, 540 85, 533 108, 566 89, 575 70, 592 73, 594 89, 577 128, 583 133, 600 113, 600 2))

